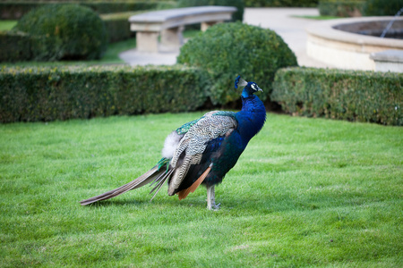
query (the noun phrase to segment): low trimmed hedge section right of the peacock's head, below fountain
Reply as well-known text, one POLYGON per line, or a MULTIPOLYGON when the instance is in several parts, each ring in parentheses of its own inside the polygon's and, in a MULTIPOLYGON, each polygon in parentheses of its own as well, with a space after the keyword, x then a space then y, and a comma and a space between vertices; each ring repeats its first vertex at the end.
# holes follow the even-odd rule
POLYGON ((403 125, 402 73, 288 68, 273 88, 287 113, 403 125))

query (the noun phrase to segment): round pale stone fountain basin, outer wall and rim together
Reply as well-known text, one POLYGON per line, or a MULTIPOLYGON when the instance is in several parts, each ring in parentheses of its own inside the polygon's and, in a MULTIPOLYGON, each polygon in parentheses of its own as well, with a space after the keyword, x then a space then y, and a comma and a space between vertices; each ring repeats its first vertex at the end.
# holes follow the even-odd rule
POLYGON ((396 18, 387 38, 372 36, 380 36, 393 19, 395 18, 361 17, 313 23, 306 28, 307 54, 339 69, 376 70, 371 54, 385 50, 403 53, 403 39, 399 39, 403 33, 402 17, 396 18))

